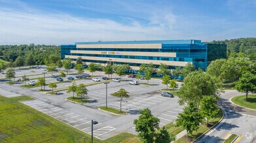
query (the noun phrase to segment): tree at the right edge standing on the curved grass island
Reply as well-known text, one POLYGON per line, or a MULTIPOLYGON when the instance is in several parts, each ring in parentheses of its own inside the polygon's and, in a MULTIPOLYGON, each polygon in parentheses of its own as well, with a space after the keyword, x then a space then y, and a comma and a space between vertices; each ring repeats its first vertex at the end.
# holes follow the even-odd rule
POLYGON ((246 101, 248 101, 248 93, 256 93, 256 75, 245 71, 239 81, 235 82, 236 90, 246 93, 246 101))

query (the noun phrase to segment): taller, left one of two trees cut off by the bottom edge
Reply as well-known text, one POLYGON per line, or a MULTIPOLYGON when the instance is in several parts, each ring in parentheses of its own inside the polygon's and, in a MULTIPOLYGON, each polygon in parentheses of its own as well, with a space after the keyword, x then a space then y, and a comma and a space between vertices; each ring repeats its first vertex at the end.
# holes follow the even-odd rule
POLYGON ((159 118, 153 116, 150 109, 140 110, 140 116, 133 121, 135 131, 142 142, 151 143, 154 141, 155 130, 159 129, 159 118))

